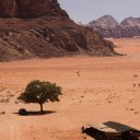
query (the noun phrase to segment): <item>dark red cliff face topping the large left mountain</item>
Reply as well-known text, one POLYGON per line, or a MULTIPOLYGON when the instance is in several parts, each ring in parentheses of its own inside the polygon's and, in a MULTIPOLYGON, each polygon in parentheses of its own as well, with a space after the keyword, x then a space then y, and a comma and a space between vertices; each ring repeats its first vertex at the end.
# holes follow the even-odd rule
POLYGON ((57 0, 0 0, 2 18, 36 18, 44 14, 68 16, 57 0))

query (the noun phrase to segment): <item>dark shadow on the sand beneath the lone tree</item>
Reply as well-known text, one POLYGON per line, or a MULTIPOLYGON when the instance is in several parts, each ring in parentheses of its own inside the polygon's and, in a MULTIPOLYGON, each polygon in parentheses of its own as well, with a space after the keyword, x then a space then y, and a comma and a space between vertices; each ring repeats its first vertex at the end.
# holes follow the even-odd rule
POLYGON ((37 112, 26 112, 25 115, 21 115, 20 113, 13 113, 13 114, 16 114, 19 116, 42 116, 42 115, 48 115, 48 114, 54 114, 56 112, 54 110, 44 110, 43 113, 40 113, 39 110, 37 112))

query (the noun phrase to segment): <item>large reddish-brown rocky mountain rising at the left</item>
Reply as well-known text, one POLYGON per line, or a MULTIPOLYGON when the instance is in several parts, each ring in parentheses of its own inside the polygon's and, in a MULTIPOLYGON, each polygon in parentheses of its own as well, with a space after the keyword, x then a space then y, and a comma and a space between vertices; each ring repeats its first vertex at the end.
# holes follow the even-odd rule
POLYGON ((70 20, 57 0, 0 0, 0 61, 79 54, 115 51, 113 43, 70 20))

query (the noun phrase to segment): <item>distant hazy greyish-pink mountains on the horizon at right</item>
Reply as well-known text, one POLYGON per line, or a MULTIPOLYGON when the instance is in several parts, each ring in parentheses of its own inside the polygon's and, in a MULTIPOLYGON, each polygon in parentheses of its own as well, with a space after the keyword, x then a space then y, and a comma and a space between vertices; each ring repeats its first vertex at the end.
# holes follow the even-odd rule
POLYGON ((89 23, 102 37, 121 38, 140 36, 140 18, 127 18, 118 23, 112 15, 104 15, 89 23))

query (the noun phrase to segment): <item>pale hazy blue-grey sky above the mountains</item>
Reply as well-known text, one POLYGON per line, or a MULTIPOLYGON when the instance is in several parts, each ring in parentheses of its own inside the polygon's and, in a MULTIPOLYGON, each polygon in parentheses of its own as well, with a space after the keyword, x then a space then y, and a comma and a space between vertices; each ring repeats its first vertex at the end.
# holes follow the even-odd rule
POLYGON ((104 14, 119 22, 128 16, 140 18, 140 0, 58 0, 75 22, 89 23, 104 14))

